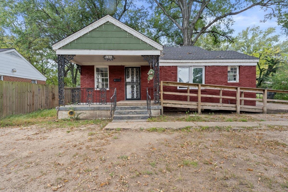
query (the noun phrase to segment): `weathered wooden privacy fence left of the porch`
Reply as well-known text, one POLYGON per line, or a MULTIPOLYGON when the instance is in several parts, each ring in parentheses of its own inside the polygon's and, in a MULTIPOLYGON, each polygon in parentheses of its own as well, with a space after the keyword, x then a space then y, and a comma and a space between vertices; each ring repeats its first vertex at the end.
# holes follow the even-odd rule
POLYGON ((58 85, 0 81, 0 118, 57 106, 58 85))

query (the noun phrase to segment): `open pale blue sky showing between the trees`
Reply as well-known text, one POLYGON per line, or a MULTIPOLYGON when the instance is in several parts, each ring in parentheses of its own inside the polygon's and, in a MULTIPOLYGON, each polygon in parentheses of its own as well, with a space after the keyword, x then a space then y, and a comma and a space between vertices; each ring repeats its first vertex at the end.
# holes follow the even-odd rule
MULTIPOLYGON (((147 3, 137 0, 136 1, 137 6, 144 6, 148 7, 147 3)), ((276 19, 268 20, 266 22, 260 22, 261 20, 264 20, 264 15, 267 14, 267 12, 264 12, 260 7, 254 7, 252 9, 248 9, 245 12, 242 12, 238 15, 232 16, 234 19, 234 25, 232 26, 234 28, 234 34, 233 36, 236 36, 239 32, 241 32, 243 29, 246 29, 249 26, 260 26, 261 30, 265 30, 268 27, 276 27, 276 33, 280 34, 280 41, 287 40, 286 35, 281 34, 281 26, 278 26, 276 19)))

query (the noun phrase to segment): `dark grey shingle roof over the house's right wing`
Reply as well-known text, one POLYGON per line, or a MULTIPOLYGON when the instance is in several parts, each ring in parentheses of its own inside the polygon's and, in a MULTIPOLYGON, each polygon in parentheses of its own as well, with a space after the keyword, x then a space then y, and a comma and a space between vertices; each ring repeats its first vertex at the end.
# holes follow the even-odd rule
POLYGON ((236 51, 207 51, 196 46, 163 47, 166 60, 259 59, 236 51))

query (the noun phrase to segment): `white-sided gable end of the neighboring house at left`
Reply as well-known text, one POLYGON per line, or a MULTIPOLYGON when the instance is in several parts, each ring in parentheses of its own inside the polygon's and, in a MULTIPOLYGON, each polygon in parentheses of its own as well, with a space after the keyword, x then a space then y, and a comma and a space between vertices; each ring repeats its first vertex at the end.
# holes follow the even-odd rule
POLYGON ((46 81, 46 77, 15 48, 0 49, 0 75, 46 81), (12 72, 12 69, 16 72, 12 72))

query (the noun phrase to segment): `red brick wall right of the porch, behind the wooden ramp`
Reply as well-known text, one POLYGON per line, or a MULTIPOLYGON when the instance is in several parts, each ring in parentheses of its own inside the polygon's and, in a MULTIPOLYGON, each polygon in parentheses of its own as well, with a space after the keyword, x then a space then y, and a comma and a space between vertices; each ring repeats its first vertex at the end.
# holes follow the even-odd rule
MULTIPOLYGON (((226 85, 226 86, 239 86, 239 87, 256 87, 256 66, 239 66, 239 82, 229 83, 227 79, 228 66, 205 66, 205 84, 211 85, 226 85)), ((160 67, 160 80, 162 81, 177 81, 177 66, 161 66, 160 67)), ((187 90, 179 90, 177 87, 164 86, 164 91, 167 92, 183 92, 187 90)), ((219 95, 218 90, 201 90, 202 94, 219 95)), ((190 90, 190 93, 196 93, 197 90, 190 90)), ((234 91, 223 91, 223 96, 236 96, 234 91)), ((255 98, 255 93, 244 93, 245 97, 255 98)), ((169 100, 187 100, 187 96, 178 95, 164 95, 164 99, 169 100)), ((191 96, 190 101, 197 101, 197 97, 191 96)), ((219 98, 202 97, 204 102, 219 102, 219 98)), ((222 103, 236 104, 235 99, 222 99, 222 103)), ((255 101, 244 101, 245 105, 255 105, 255 101)))

